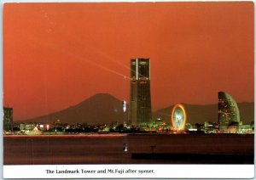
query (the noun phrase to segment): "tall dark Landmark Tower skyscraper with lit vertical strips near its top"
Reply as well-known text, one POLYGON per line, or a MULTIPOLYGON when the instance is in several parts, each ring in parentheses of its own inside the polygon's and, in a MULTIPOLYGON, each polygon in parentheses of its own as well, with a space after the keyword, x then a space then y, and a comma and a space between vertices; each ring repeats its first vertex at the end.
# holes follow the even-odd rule
POLYGON ((130 123, 152 126, 149 59, 131 59, 130 123))

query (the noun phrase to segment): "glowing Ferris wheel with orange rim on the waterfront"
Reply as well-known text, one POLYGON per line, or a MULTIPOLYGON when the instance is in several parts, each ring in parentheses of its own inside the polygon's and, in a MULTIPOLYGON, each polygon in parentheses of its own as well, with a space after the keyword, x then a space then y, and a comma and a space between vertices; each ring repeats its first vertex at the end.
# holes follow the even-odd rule
POLYGON ((172 109, 172 129, 174 131, 184 131, 187 122, 187 115, 182 104, 176 104, 172 109))

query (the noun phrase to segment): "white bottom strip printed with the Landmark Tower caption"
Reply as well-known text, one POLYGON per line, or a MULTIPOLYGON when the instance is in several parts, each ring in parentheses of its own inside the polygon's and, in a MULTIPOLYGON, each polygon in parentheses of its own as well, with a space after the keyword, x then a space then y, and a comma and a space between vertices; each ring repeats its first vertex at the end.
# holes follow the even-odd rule
MULTIPOLYGON (((48 171, 48 172, 49 172, 48 171)), ((253 165, 46 165, 3 166, 4 178, 253 178, 253 165), (82 173, 83 170, 95 171, 82 173), (46 170, 52 171, 47 173, 46 170), (76 173, 56 173, 59 171, 76 173), (109 170, 109 171, 108 171, 109 170), (113 172, 111 172, 113 170, 113 172), (118 170, 118 171, 116 171, 118 170), (133 170, 133 173, 131 173, 133 170), (151 170, 154 173, 140 173, 151 170), (104 171, 105 173, 97 173, 104 171), (125 173, 128 171, 127 173, 125 173), (78 173, 79 172, 79 173, 78 173), (213 176, 212 176, 213 175, 213 176)))

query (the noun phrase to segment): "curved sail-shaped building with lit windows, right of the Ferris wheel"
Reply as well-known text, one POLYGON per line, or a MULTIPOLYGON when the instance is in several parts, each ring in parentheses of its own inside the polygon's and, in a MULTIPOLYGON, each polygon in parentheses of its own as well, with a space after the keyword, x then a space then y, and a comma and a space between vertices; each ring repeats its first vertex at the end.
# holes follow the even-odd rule
POLYGON ((236 132, 240 114, 236 100, 229 93, 218 92, 218 124, 220 132, 236 132))

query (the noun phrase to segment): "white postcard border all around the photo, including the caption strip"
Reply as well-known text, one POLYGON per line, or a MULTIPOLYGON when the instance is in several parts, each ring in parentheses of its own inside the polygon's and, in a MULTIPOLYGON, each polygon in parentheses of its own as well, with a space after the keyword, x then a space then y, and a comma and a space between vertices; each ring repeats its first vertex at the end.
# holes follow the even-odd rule
MULTIPOLYGON (((136 2, 170 2, 170 0, 3 0, 3 3, 136 3, 136 2)), ((180 2, 179 0, 172 0, 171 2, 180 2)), ((203 0, 185 0, 183 2, 206 2, 203 0)), ((211 2, 216 2, 213 0, 211 2)), ((218 2, 253 2, 247 0, 218 0, 218 2)), ((0 41, 2 48, 0 49, 0 71, 3 72, 3 3, 0 8, 0 41)), ((254 18, 256 18, 254 14, 254 18)), ((254 25, 255 27, 255 25, 254 25)), ((255 41, 254 41, 255 46, 255 41)), ((255 65, 254 65, 255 70, 255 65)), ((254 75, 255 87, 256 75, 254 75)), ((256 88, 254 88, 256 92, 256 88)), ((3 74, 0 74, 0 105, 3 107, 3 74)), ((255 93, 254 93, 255 94, 255 93)), ((256 97, 254 96, 256 99, 256 97)), ((254 106, 254 111, 256 107, 254 106)), ((0 111, 3 117, 3 110, 0 111)), ((255 118, 254 118, 255 119, 255 118)), ((3 123, 0 123, 0 132, 3 137, 3 123)), ((3 138, 0 143, 3 144, 3 138)), ((255 138, 254 138, 255 144, 255 138)), ((2 153, 1 165, 3 165, 3 146, 0 148, 2 153)), ((255 149, 254 149, 255 152, 255 149)), ((255 175, 254 165, 44 165, 44 166, 3 166, 0 170, 0 178, 253 178, 255 175), (46 170, 73 170, 73 169, 87 169, 87 170, 102 170, 102 169, 152 169, 154 174, 47 174, 46 170)))

